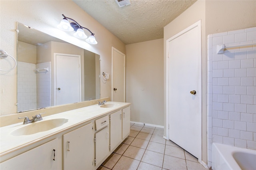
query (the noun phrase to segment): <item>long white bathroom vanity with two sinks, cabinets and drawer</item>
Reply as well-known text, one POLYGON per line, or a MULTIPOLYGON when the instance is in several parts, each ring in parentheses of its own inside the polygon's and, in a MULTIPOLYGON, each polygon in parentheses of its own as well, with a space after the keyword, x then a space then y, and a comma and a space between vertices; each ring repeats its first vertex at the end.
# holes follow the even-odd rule
POLYGON ((96 170, 130 134, 130 103, 92 105, 0 131, 1 170, 96 170))

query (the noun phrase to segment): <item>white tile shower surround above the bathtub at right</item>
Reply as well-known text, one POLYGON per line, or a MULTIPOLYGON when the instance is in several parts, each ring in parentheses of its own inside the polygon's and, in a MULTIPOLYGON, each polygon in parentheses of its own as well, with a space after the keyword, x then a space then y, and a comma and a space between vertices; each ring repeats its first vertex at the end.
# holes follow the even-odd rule
POLYGON ((212 142, 256 150, 256 27, 208 35, 208 166, 212 142))

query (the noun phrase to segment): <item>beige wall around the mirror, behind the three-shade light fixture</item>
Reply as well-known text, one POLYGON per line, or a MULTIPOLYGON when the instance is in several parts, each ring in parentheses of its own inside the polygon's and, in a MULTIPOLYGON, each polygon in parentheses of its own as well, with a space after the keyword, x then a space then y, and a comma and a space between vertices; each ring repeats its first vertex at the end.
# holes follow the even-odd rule
MULTIPOLYGON (((0 1, 0 44, 1 49, 16 58, 16 22, 20 22, 46 34, 72 43, 101 57, 101 71, 111 73, 111 49, 125 53, 125 45, 106 28, 79 8, 73 1, 0 1), (60 31, 57 25, 62 20, 61 14, 73 18, 82 26, 89 28, 98 41, 97 45, 91 45, 84 40, 74 38, 71 33, 60 31), (2 24, 4 23, 4 24, 2 24)), ((85 31, 86 32, 86 31, 85 31)), ((87 32, 86 32, 87 34, 87 32)), ((11 59, 10 59, 10 62, 11 59)), ((0 63, 1 64, 1 63, 0 63)), ((0 65, 1 69, 8 69, 6 65, 0 65)), ((16 69, 8 72, 0 71, 0 115, 16 113, 17 107, 17 75, 16 69)), ((107 83, 101 83, 101 97, 111 97, 111 79, 107 83)))

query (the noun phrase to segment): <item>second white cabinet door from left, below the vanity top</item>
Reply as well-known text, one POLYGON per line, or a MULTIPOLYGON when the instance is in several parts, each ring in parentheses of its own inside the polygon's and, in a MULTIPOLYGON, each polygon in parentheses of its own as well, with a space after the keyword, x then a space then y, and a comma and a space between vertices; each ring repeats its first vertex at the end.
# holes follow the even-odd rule
POLYGON ((94 138, 92 123, 63 135, 63 169, 93 168, 94 138))

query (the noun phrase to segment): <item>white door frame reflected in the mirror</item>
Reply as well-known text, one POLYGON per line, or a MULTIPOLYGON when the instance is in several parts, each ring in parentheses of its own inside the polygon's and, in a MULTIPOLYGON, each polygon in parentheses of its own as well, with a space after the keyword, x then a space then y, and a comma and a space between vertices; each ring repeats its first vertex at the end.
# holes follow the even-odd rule
POLYGON ((80 98, 80 102, 82 101, 82 68, 81 68, 81 55, 76 55, 76 54, 65 54, 65 53, 53 53, 53 59, 54 59, 54 87, 53 87, 53 93, 54 93, 54 106, 56 106, 56 99, 57 99, 57 86, 56 86, 56 73, 57 73, 57 70, 56 70, 56 55, 64 55, 64 56, 72 56, 72 57, 78 57, 79 58, 79 98, 80 98))

